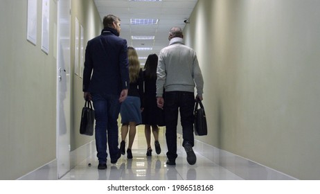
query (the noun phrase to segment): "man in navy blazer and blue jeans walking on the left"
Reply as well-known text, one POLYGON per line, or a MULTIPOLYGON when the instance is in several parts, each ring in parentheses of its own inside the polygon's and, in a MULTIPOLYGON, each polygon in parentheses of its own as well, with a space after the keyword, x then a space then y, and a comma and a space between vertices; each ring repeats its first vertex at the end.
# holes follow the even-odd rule
POLYGON ((130 80, 127 41, 118 37, 120 21, 114 15, 105 16, 101 35, 89 40, 85 53, 82 90, 85 100, 94 102, 98 169, 107 168, 107 143, 111 163, 121 157, 117 120, 130 80))

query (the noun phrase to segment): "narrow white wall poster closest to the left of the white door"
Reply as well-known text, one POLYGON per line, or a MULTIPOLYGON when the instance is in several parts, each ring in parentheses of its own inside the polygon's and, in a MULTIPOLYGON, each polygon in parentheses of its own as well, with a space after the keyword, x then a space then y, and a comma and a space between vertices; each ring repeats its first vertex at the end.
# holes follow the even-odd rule
POLYGON ((49 1, 42 0, 42 51, 49 52, 49 1))

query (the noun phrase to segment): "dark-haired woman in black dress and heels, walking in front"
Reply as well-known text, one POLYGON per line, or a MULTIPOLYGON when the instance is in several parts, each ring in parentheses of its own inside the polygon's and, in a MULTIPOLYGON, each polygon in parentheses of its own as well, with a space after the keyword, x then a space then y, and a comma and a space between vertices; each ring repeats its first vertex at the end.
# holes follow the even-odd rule
POLYGON ((157 107, 156 81, 157 81, 158 56, 151 54, 145 62, 145 71, 143 71, 143 80, 145 81, 145 92, 143 95, 144 109, 142 112, 142 123, 145 125, 145 139, 147 140, 147 156, 152 155, 151 148, 151 127, 154 136, 154 147, 157 154, 161 153, 161 147, 158 141, 159 127, 164 126, 163 110, 157 107))

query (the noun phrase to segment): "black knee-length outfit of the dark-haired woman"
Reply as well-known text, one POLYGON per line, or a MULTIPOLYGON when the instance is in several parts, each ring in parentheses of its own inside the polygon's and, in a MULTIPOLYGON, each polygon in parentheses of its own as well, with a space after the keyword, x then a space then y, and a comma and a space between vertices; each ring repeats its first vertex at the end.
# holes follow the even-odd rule
POLYGON ((157 78, 148 78, 143 71, 145 92, 143 94, 144 109, 142 112, 142 124, 164 126, 164 112, 157 106, 156 82, 157 78))

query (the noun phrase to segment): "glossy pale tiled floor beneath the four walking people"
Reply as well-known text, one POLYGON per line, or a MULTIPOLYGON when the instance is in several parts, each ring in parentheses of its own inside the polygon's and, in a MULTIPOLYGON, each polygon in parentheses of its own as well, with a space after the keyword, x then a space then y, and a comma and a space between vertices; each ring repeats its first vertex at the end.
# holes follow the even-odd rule
MULTIPOLYGON (((154 141, 152 139, 152 141, 154 141)), ((127 155, 122 155, 117 164, 107 162, 107 170, 98 170, 98 160, 96 153, 82 161, 81 164, 71 169, 69 173, 61 179, 75 180, 185 180, 185 179, 203 179, 203 180, 225 180, 225 179, 242 179, 231 173, 226 168, 215 164, 213 161, 195 152, 197 163, 189 165, 186 161, 186 152, 181 147, 181 139, 178 139, 178 158, 176 166, 166 165, 166 141, 164 139, 164 130, 160 130, 159 142, 162 152, 157 155, 152 145, 152 157, 147 157, 146 143, 143 126, 138 127, 134 145, 132 147, 133 159, 127 159, 127 155)))

